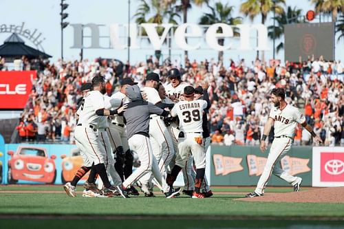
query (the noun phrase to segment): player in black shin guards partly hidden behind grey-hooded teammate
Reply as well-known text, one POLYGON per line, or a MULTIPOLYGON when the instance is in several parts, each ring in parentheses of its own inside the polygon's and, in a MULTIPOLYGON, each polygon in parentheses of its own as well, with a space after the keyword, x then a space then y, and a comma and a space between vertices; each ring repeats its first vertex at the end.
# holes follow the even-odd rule
MULTIPOLYGON (((120 85, 120 91, 117 91, 111 96, 111 100, 120 101, 118 105, 113 105, 113 108, 118 108, 121 105, 127 104, 129 99, 127 98, 125 87, 127 87, 127 85, 137 84, 138 83, 134 83, 131 78, 123 78, 120 85)), ((120 175, 120 179, 122 179, 122 182, 124 182, 124 180, 127 179, 131 173, 133 173, 133 153, 129 149, 127 131, 125 129, 125 123, 123 122, 123 116, 111 116, 108 119, 108 122, 109 129, 107 129, 107 133, 110 138, 111 147, 116 154, 115 168, 120 175)), ((133 186, 129 188, 128 194, 139 195, 138 190, 136 190, 136 188, 133 186)))

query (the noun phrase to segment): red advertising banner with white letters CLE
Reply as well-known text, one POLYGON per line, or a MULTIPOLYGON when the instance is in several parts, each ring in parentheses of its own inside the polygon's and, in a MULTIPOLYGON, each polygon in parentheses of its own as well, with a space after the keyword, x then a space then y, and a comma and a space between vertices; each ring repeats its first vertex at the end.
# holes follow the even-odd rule
POLYGON ((36 71, 0 72, 0 109, 23 109, 34 78, 36 71))

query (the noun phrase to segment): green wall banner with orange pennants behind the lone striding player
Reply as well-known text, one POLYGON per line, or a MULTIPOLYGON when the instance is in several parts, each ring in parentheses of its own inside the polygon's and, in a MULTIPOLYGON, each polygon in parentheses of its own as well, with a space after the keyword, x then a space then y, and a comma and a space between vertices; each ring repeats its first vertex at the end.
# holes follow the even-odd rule
MULTIPOLYGON (((264 171, 268 151, 261 153, 254 146, 211 146, 211 185, 255 186, 264 171)), ((312 185, 312 147, 292 147, 279 164, 291 175, 302 177, 302 184, 312 185)), ((272 175, 272 186, 288 186, 288 183, 272 175)))

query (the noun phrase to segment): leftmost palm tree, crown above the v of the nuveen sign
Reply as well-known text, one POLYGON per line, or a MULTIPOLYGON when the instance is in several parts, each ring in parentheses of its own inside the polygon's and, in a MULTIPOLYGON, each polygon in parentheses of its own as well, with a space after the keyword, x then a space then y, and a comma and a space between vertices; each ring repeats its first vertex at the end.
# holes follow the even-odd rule
MULTIPOLYGON (((177 25, 176 18, 180 18, 180 15, 173 8, 169 8, 164 1, 151 0, 151 4, 147 3, 147 0, 140 0, 141 4, 138 7, 138 11, 133 17, 136 17, 136 23, 158 23, 164 22, 177 25)), ((164 32, 164 28, 156 28, 158 34, 161 36, 164 32)), ((147 32, 142 28, 140 35, 147 36, 147 32)), ((169 46, 171 45, 171 36, 169 37, 169 46)), ((160 50, 155 50, 155 56, 160 58, 160 50)))

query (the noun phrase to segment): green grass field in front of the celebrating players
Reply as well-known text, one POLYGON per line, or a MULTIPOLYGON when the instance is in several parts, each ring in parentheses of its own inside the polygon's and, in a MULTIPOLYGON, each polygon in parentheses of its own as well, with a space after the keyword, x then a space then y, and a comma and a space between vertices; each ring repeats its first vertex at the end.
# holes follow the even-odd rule
MULTIPOLYGON (((304 188, 303 190, 305 190, 304 188)), ((165 199, 162 195, 130 199, 75 198, 62 186, 0 186, 1 228, 290 228, 314 225, 344 228, 344 204, 260 203, 238 201, 252 188, 213 188, 216 194, 207 199, 181 195, 165 199), (29 190, 35 193, 7 193, 4 190, 29 190), (37 220, 40 219, 40 220, 37 220), (96 220, 95 220, 96 219, 96 220), (290 219, 290 220, 289 220, 290 219), (305 221, 308 219, 308 221, 305 221), (96 223, 98 222, 98 224, 96 223), (116 226, 116 227, 115 227, 116 226)), ((78 190, 82 190, 78 187, 78 190)), ((268 188, 270 192, 290 192, 290 188, 268 188)), ((156 192, 158 193, 158 192, 156 192)))

